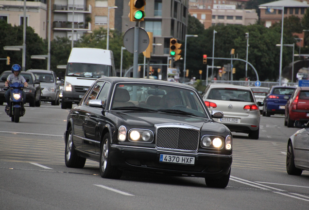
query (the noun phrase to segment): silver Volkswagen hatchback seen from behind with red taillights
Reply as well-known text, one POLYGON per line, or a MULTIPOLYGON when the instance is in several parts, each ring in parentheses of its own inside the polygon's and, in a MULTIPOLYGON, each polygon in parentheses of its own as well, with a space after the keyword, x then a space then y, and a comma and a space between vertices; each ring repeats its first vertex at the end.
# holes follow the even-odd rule
POLYGON ((247 133, 251 139, 258 139, 260 113, 259 106, 263 103, 256 102, 249 87, 209 84, 203 94, 207 108, 223 112, 222 119, 214 119, 226 125, 230 131, 247 133))

